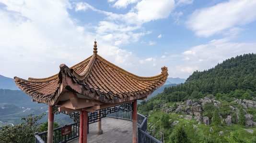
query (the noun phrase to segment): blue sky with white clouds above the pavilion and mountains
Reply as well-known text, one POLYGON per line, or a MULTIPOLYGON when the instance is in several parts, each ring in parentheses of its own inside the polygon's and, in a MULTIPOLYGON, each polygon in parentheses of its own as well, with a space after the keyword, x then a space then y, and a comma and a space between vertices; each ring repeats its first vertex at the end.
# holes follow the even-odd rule
POLYGON ((256 0, 0 0, 0 75, 46 78, 98 54, 188 78, 256 53, 256 0))

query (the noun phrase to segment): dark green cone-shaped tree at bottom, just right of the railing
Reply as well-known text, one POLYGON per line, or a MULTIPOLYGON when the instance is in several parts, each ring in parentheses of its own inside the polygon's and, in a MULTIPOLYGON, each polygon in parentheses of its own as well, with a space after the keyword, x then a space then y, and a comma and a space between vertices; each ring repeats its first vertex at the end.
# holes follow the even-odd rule
POLYGON ((169 143, 190 143, 182 125, 176 125, 175 129, 169 136, 169 143))

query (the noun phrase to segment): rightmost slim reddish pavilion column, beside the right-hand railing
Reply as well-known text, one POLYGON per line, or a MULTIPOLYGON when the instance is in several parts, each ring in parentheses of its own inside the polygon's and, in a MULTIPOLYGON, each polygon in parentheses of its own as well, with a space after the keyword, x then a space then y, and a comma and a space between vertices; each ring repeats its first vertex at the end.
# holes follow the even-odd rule
POLYGON ((133 111, 132 111, 132 143, 138 143, 137 100, 134 100, 134 102, 133 102, 133 111))

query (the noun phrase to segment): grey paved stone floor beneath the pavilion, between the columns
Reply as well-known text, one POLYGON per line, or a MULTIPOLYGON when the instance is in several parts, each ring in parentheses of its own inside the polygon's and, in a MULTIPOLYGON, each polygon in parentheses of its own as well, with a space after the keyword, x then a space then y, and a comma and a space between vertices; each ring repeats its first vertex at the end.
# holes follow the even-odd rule
MULTIPOLYGON (((89 124, 87 143, 132 143, 132 122, 110 117, 102 118, 103 134, 96 134, 98 123, 89 124)), ((79 143, 76 138, 68 143, 79 143)))

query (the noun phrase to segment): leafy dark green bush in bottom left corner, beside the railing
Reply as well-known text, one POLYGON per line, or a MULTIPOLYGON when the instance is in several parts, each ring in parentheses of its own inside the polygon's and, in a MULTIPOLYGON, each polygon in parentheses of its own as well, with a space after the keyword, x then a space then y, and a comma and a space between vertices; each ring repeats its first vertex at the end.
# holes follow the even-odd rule
POLYGON ((46 114, 38 116, 29 114, 27 117, 21 118, 25 121, 15 126, 4 126, 0 130, 0 143, 34 143, 35 132, 39 131, 40 123, 37 123, 46 114))

